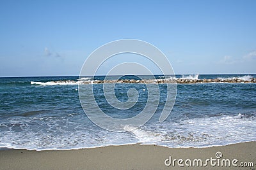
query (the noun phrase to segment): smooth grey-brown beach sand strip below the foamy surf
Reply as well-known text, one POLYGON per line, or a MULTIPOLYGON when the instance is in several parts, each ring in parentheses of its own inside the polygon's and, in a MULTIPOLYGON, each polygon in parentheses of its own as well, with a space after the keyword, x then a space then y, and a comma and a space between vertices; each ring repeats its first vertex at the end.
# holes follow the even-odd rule
MULTIPOLYGON (((218 160, 218 159, 217 159, 218 160)), ((217 163, 216 160, 216 163, 217 163)), ((169 161, 166 161, 168 164, 169 161)), ((189 162, 188 162, 189 163, 189 162)), ((195 162, 196 163, 196 162, 195 162)), ((193 163, 192 163, 193 164, 193 163)), ((104 146, 81 150, 60 151, 29 151, 29 150, 1 150, 0 169, 255 169, 256 142, 238 143, 227 146, 209 148, 166 148, 155 145, 124 145, 104 146), (164 161, 169 159, 216 159, 216 152, 221 152, 219 159, 230 159, 230 167, 166 166, 164 161), (253 162, 253 167, 234 167, 232 160, 237 159, 237 166, 241 162, 253 162)))

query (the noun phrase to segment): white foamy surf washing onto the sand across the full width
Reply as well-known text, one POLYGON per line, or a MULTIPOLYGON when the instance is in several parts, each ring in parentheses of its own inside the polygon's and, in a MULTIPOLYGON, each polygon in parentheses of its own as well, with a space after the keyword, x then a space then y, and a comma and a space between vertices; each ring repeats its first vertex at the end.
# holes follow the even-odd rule
MULTIPOLYGON (((74 115, 70 115, 72 117, 74 115)), ((84 122, 69 122, 65 117, 16 118, 0 123, 0 148, 27 150, 74 150, 110 145, 160 145, 170 148, 209 147, 256 141, 256 117, 239 113, 183 119, 177 122, 154 122, 127 132, 92 129, 84 122), (37 123, 36 123, 37 122, 37 123), (29 129, 33 125, 35 129, 29 129), (38 128, 38 125, 39 128, 38 128), (26 138, 24 138, 26 136, 26 138), (22 140, 20 140, 22 139, 22 140), (15 143, 10 142, 15 141, 15 143)))

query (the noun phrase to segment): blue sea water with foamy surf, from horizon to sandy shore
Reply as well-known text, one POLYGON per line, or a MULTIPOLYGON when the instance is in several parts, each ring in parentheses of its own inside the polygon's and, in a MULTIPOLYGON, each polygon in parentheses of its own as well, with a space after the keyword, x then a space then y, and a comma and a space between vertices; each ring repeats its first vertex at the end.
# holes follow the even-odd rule
MULTIPOLYGON (((176 75, 182 77, 248 79, 256 75, 176 75)), ((205 147, 256 141, 256 83, 177 84, 172 113, 161 123, 166 85, 159 84, 159 105, 147 124, 138 129, 125 127, 127 132, 113 132, 86 117, 79 101, 78 79, 79 76, 0 78, 0 148, 65 150, 133 143, 205 147)), ((104 76, 94 77, 103 79, 104 76)), ((84 81, 93 83, 93 78, 84 81)), ((138 103, 129 110, 117 110, 106 102, 102 84, 93 85, 100 108, 115 118, 134 117, 145 107, 144 84, 116 84, 116 97, 127 101, 127 90, 131 88, 138 90, 138 103)))

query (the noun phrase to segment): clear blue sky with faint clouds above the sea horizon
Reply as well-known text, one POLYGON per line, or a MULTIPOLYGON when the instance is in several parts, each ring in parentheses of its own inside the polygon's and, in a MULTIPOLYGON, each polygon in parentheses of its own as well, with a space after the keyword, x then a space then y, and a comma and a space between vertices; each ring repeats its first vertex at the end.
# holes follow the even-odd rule
MULTIPOLYGON (((90 53, 118 39, 156 46, 175 74, 256 73, 255 9, 253 0, 3 0, 0 76, 79 75, 90 53)), ((135 58, 116 57, 99 74, 135 58)))

